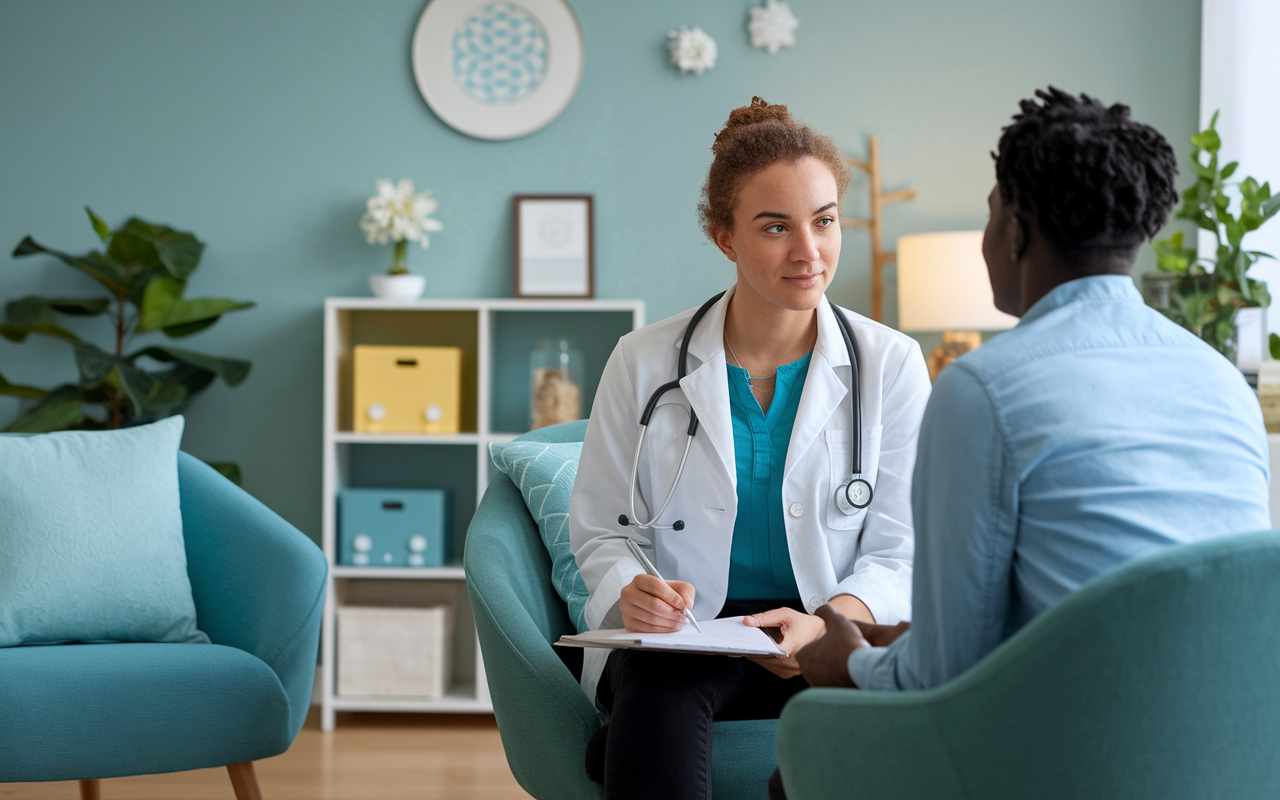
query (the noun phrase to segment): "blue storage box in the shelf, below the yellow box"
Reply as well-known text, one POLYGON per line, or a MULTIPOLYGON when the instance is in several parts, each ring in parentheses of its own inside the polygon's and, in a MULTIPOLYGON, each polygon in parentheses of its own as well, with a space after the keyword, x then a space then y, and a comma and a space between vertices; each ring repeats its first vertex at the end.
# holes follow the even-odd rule
POLYGON ((443 567, 453 553, 445 489, 344 489, 338 493, 338 563, 443 567))

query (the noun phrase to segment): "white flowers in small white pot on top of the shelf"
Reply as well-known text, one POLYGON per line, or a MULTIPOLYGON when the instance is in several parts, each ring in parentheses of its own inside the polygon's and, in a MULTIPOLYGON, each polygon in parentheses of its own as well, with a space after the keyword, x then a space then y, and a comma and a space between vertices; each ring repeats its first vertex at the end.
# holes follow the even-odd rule
POLYGON ((399 183, 381 178, 378 180, 378 193, 365 204, 365 214, 360 218, 360 229, 370 244, 396 243, 392 268, 385 275, 370 275, 369 283, 374 294, 384 300, 415 300, 422 296, 426 278, 408 271, 408 243, 421 242, 428 246, 428 230, 440 230, 440 220, 431 219, 431 212, 439 206, 426 189, 413 193, 413 182, 402 178, 399 183))

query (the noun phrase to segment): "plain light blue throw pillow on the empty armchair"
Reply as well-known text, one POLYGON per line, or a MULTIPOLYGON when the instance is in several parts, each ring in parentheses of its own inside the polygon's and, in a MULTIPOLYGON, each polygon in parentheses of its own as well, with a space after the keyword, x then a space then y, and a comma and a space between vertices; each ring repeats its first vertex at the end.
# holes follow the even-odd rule
POLYGON ((0 646, 209 641, 182 540, 182 428, 0 435, 0 646))

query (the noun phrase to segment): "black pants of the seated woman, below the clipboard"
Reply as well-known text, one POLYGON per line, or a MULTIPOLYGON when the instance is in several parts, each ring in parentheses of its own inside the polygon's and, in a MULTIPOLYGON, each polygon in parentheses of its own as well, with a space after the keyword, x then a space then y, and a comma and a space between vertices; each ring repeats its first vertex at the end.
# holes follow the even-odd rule
MULTIPOLYGON (((727 603, 722 617, 799 602, 727 603)), ((712 721, 773 719, 809 685, 745 658, 614 650, 596 689, 609 712, 586 750, 605 800, 712 796, 712 721)))

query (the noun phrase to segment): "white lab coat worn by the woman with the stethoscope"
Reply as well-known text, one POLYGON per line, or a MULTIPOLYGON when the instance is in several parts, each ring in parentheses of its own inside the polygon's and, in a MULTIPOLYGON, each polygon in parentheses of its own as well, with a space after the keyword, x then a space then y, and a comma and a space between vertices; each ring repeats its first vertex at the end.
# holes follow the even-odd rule
MULTIPOLYGON (((570 539, 590 593, 586 622, 593 630, 622 625, 617 611, 622 588, 644 572, 627 552, 627 536, 645 549, 664 579, 694 585, 695 617, 714 618, 724 604, 737 516, 723 346, 724 311, 735 288, 699 323, 689 347, 689 374, 659 401, 640 454, 635 511, 648 520, 671 489, 692 406, 698 434, 680 486, 658 520, 660 525, 684 520, 681 531, 625 527, 618 515, 631 515, 627 493, 640 413, 654 389, 676 378, 680 343, 695 310, 622 337, 604 367, 570 504, 570 539)), ((809 613, 837 594, 851 594, 877 622, 893 625, 911 617, 911 471, 929 375, 914 339, 858 314, 845 315, 859 346, 861 467, 874 498, 854 515, 836 506, 836 489, 849 480, 851 462, 852 370, 823 297, 782 479, 787 547, 809 613)), ((594 701, 609 652, 585 653, 582 687, 594 701)))

